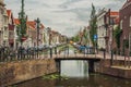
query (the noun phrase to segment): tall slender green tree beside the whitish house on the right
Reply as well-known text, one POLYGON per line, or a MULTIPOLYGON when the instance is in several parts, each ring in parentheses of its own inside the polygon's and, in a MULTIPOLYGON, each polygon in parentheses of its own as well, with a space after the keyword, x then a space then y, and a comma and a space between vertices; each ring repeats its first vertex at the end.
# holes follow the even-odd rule
POLYGON ((94 4, 92 3, 92 12, 91 12, 91 21, 90 21, 90 36, 91 36, 91 41, 93 46, 95 46, 96 41, 94 40, 94 35, 97 34, 97 16, 96 16, 96 10, 94 4))

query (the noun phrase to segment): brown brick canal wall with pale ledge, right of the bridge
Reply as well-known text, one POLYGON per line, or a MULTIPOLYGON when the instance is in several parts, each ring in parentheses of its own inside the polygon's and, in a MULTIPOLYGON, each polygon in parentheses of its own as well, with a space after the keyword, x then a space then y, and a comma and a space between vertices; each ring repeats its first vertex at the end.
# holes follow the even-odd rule
POLYGON ((94 70, 97 73, 107 74, 116 77, 131 78, 131 67, 123 66, 123 60, 114 60, 111 65, 110 60, 100 60, 94 64, 94 70))

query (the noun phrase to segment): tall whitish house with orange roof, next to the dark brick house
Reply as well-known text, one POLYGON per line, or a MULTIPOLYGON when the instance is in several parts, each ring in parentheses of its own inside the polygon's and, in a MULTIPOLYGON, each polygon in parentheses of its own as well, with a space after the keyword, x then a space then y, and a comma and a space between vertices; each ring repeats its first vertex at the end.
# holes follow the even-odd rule
POLYGON ((106 49, 107 52, 114 49, 114 29, 118 26, 119 12, 103 9, 97 14, 97 35, 98 49, 106 49))

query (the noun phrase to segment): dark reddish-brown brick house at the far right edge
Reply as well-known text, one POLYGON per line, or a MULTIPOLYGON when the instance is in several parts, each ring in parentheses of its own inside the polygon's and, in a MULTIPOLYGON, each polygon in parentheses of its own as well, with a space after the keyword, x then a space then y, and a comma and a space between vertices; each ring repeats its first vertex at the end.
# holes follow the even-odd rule
POLYGON ((120 28, 122 29, 120 50, 123 52, 131 49, 131 0, 127 0, 119 12, 120 28))

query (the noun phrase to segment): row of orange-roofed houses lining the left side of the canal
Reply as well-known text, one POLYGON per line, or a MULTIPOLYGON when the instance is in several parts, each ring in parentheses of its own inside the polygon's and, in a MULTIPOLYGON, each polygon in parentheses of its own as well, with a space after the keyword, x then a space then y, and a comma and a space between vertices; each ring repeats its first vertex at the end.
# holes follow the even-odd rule
MULTIPOLYGON (((21 29, 20 20, 13 16, 11 10, 7 10, 3 0, 0 0, 0 46, 9 46, 16 49, 20 47, 17 32, 21 29)), ((23 46, 35 47, 41 45, 57 45, 66 41, 66 36, 46 27, 43 23, 37 29, 36 21, 26 17, 26 37, 23 37, 23 46)))

